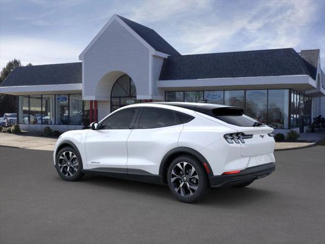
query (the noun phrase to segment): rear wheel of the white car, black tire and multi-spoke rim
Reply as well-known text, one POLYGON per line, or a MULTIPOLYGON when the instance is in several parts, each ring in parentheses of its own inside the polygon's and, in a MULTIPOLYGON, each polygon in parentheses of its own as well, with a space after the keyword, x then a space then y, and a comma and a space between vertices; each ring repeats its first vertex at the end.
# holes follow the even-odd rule
POLYGON ((173 160, 167 171, 167 181, 172 194, 186 203, 198 201, 210 189, 203 165, 196 158, 187 155, 173 160), (184 171, 186 174, 183 176, 184 171))

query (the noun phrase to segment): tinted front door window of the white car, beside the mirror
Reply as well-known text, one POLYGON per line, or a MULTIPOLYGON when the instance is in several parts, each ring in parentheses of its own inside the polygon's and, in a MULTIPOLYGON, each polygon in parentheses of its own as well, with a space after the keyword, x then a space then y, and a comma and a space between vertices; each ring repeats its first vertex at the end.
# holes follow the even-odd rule
POLYGON ((129 108, 116 112, 112 116, 105 119, 101 125, 101 130, 125 130, 129 129, 132 119, 135 116, 137 108, 129 108))

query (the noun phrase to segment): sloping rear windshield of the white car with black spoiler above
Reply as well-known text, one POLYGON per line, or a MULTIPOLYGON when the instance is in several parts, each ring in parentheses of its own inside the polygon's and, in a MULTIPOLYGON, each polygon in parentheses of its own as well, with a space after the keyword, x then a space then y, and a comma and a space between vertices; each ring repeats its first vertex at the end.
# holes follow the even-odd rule
POLYGON ((225 123, 241 126, 241 127, 255 127, 255 126, 264 126, 261 122, 243 114, 244 109, 242 108, 215 108, 212 109, 209 113, 210 116, 213 116, 217 119, 224 121, 225 123))

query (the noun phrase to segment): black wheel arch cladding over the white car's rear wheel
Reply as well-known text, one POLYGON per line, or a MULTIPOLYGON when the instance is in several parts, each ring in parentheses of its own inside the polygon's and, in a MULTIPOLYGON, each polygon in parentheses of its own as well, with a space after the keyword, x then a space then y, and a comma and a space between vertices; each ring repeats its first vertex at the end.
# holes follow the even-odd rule
POLYGON ((176 148, 168 151, 168 153, 164 156, 163 160, 161 160, 161 163, 159 166, 159 175, 161 177, 161 180, 165 184, 167 183, 167 169, 168 169, 169 165, 172 163, 172 161, 174 159, 176 159, 178 156, 181 156, 181 155, 189 155, 189 156, 197 159, 202 164, 202 166, 205 168, 205 171, 207 172, 208 177, 213 176, 213 172, 212 172, 209 162, 197 150, 194 150, 189 147, 176 147, 176 148))

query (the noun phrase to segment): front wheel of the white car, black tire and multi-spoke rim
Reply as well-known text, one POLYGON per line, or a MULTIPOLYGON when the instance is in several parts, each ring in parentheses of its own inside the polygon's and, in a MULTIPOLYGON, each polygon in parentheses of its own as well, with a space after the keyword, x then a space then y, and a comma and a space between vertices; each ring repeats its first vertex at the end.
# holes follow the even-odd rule
POLYGON ((58 151, 55 156, 55 168, 59 176, 68 181, 76 181, 84 176, 81 172, 82 160, 79 151, 70 146, 58 151))

